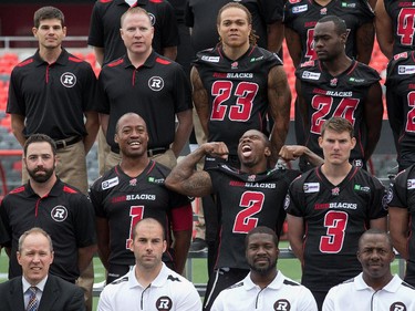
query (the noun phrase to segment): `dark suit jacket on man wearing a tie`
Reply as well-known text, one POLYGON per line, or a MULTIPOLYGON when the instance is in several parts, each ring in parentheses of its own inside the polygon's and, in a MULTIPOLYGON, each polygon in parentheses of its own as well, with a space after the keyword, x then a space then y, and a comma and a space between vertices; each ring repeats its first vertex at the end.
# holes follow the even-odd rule
MULTIPOLYGON (((0 283, 0 311, 24 311, 22 277, 0 283)), ((39 311, 84 311, 83 290, 49 274, 39 311)))

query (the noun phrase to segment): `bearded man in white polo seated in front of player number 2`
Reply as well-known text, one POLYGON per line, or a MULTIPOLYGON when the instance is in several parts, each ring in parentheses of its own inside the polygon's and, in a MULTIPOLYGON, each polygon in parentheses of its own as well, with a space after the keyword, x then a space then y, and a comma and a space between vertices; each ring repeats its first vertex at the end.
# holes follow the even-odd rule
POLYGON ((245 239, 249 274, 224 290, 211 311, 291 310, 317 311, 311 291, 276 269, 278 237, 267 227, 250 230, 245 239))

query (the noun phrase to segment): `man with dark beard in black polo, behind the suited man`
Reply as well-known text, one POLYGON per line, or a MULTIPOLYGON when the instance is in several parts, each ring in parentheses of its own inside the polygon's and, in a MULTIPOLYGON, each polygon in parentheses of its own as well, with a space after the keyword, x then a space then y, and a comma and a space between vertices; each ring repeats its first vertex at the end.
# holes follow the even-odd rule
POLYGON ((91 201, 56 176, 56 145, 48 135, 29 136, 23 160, 29 182, 11 190, 0 205, 0 218, 7 231, 0 237, 0 243, 10 257, 9 279, 22 274, 17 260, 19 237, 40 227, 51 236, 54 246, 50 272, 75 283, 96 250, 91 201))

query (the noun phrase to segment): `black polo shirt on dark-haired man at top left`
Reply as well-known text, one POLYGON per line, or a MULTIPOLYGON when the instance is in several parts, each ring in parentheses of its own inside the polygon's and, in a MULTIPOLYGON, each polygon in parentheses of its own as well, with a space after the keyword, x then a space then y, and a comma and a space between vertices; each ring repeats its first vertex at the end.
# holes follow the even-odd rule
POLYGON ((62 49, 53 64, 37 53, 10 76, 7 113, 25 116, 24 136, 53 139, 86 135, 84 112, 95 111, 96 76, 87 62, 62 49))

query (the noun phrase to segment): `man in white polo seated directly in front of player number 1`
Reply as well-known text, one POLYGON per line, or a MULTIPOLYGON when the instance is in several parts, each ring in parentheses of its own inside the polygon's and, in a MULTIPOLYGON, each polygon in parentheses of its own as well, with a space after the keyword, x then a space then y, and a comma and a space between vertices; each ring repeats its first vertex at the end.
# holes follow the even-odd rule
POLYGON ((195 287, 162 261, 167 241, 159 221, 154 218, 138 221, 133 228, 129 245, 136 265, 127 274, 104 288, 98 311, 201 310, 195 287))

